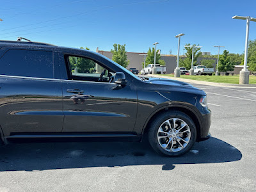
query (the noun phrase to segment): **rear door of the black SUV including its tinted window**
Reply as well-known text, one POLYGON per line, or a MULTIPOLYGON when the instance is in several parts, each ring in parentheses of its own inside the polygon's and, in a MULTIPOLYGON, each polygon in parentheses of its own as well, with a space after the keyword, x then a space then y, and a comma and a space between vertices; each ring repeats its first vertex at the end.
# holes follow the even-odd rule
POLYGON ((0 122, 4 136, 61 132, 60 79, 54 54, 44 49, 2 48, 0 122))

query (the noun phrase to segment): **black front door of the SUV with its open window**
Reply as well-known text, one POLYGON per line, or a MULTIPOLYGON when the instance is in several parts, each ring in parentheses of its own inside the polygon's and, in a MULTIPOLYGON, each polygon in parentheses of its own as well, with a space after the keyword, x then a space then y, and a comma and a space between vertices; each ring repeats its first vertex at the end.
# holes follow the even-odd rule
POLYGON ((113 71, 93 58, 67 54, 63 58, 68 74, 62 82, 63 132, 131 133, 136 121, 137 94, 129 83, 117 88, 109 82, 113 71))

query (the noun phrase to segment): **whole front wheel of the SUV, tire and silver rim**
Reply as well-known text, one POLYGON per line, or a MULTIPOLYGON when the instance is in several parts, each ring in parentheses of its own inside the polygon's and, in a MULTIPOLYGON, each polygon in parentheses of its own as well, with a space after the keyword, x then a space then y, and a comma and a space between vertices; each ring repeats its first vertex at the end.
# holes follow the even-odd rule
POLYGON ((195 124, 188 115, 181 111, 167 111, 157 116, 150 124, 148 131, 148 141, 151 147, 158 154, 169 157, 185 154, 193 147, 195 140, 195 124), (174 121, 176 122, 175 125, 178 126, 173 127, 174 121), (170 122, 170 124, 168 122, 170 122), (171 125, 172 129, 170 129, 169 125, 171 125), (180 126, 183 128, 179 129, 180 126), (176 133, 171 131, 173 128, 176 133), (179 130, 183 133, 179 133, 179 130), (180 138, 182 138, 182 140, 180 138), (168 144, 166 145, 166 143, 168 144), (183 147, 181 147, 181 145, 183 147))

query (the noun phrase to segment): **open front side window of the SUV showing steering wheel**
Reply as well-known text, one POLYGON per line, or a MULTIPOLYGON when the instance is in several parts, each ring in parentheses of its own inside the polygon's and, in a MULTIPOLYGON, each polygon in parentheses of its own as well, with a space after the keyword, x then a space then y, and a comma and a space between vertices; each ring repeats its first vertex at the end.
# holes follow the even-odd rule
POLYGON ((109 81, 112 73, 98 63, 80 56, 66 56, 72 80, 109 81), (101 79, 100 75, 102 75, 101 79))

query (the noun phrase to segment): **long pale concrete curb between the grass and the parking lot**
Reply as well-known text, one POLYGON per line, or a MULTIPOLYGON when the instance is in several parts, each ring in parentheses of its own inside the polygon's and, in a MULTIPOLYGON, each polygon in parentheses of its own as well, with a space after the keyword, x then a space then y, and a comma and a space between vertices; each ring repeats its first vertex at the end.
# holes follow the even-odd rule
POLYGON ((168 77, 168 76, 159 76, 159 75, 149 75, 150 77, 173 79, 177 81, 183 81, 186 83, 195 83, 195 84, 205 84, 210 86, 225 86, 225 87, 243 87, 243 88, 256 88, 256 84, 230 84, 230 83, 214 83, 209 81, 197 81, 192 79, 183 79, 179 77, 168 77))

